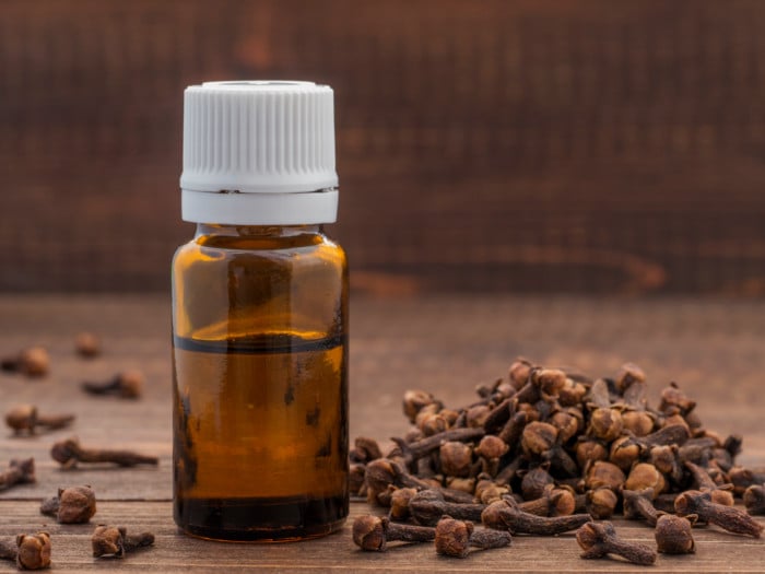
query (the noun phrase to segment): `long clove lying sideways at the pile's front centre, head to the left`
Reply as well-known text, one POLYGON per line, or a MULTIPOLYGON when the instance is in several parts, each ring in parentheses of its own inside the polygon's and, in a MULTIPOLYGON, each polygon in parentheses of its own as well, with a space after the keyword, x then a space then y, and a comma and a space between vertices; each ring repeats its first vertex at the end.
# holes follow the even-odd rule
POLYGON ((589 519, 588 514, 537 516, 521 511, 515 501, 507 499, 493 502, 481 513, 481 522, 484 526, 507 530, 513 535, 554 536, 579 528, 589 519))

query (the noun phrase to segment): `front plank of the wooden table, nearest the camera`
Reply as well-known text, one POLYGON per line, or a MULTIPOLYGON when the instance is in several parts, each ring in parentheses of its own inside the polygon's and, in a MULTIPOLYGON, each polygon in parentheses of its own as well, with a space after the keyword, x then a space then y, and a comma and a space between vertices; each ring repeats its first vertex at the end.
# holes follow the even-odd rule
MULTIPOLYGON (((134 572, 244 572, 258 570, 361 572, 628 572, 636 566, 617 560, 584 561, 573 535, 542 538, 517 536, 507 549, 473 552, 468 560, 438 557, 432 544, 391 544, 385 553, 363 552, 353 544, 351 524, 367 514, 365 503, 351 505, 351 519, 341 532, 299 544, 243 544, 203 541, 179 534, 166 502, 106 502, 91 525, 57 525, 46 522, 32 502, 0 502, 0 536, 47 529, 52 540, 57 571, 107 572, 115 567, 134 572), (118 524, 128 531, 151 530, 155 547, 127 555, 121 561, 93 559, 90 537, 94 524, 118 524)), ((652 529, 640 524, 614 520, 620 536, 654 546, 652 529)), ((719 572, 734 565, 737 572, 762 571, 765 544, 725 534, 714 527, 696 528, 696 554, 659 555, 654 570, 719 572)), ((11 570, 5 566, 7 570, 11 570)), ((0 570, 3 564, 0 563, 0 570)), ((652 570, 652 571, 654 571, 652 570)))

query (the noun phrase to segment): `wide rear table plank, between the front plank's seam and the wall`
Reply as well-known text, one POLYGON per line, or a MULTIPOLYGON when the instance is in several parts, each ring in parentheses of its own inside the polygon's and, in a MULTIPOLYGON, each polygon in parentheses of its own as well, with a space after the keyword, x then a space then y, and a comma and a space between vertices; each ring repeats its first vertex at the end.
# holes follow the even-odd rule
MULTIPOLYGON (((0 354, 45 344, 51 373, 26 380, 0 373, 0 407, 36 402, 79 419, 71 434, 83 444, 120 445, 160 456, 157 469, 63 472, 49 457, 59 431, 15 438, 0 430, 0 465, 35 456, 36 487, 0 497, 40 499, 59 485, 90 482, 116 500, 169 500, 169 304, 164 297, 0 296, 0 354), (104 338, 105 354, 85 362, 72 352, 79 330, 104 338), (148 376, 136 402, 94 399, 79 390, 83 378, 107 378, 127 367, 148 376), (4 433, 4 434, 3 434, 4 433)), ((351 305, 351 436, 380 441, 402 435, 400 400, 408 388, 437 394, 447 405, 474 399, 473 387, 503 376, 523 354, 543 364, 567 364, 608 375, 625 361, 640 364, 656 402, 670 380, 698 402, 707 426, 744 435, 741 460, 765 466, 765 303, 695 300, 517 298, 451 296, 364 300, 351 305)))

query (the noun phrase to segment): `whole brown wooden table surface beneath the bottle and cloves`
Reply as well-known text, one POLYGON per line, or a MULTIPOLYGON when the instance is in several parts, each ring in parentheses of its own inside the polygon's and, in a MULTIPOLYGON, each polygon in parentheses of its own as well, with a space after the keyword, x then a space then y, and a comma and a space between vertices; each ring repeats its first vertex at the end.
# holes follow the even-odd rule
MULTIPOLYGON (((14 437, 0 431, 0 466, 34 456, 37 483, 0 493, 0 536, 48 529, 57 571, 140 572, 262 571, 629 571, 605 560, 584 561, 574 537, 516 537, 509 549, 467 560, 435 554, 429 544, 385 554, 357 551, 350 527, 302 543, 228 544, 177 532, 172 518, 169 305, 162 296, 0 296, 0 353, 31 344, 51 353, 50 374, 39 380, 0 374, 0 406, 34 402, 40 411, 78 415, 70 431, 14 437), (102 336, 105 352, 84 361, 73 352, 81 330, 102 336), (83 379, 108 378, 140 367, 148 376, 139 401, 93 398, 83 379), (83 444, 136 448, 160 457, 158 468, 64 471, 49 456, 52 442, 70 434, 83 444), (150 529, 156 544, 125 560, 91 555, 93 525, 61 526, 38 512, 39 501, 62 485, 89 483, 98 496, 93 523, 150 529)), ((351 305, 351 436, 386 441, 407 422, 404 389, 423 388, 447 405, 474 398, 473 388, 506 373, 518 354, 542 364, 570 365, 609 375, 625 361, 644 367, 651 402, 676 380, 698 401, 709 429, 744 435, 739 460, 765 466, 765 302, 723 300, 595 300, 502 296, 354 298, 351 305)), ((368 511, 353 503, 351 515, 368 511)), ((616 520, 623 536, 652 543, 652 530, 616 520)), ((695 555, 659 555, 652 571, 763 571, 765 542, 694 530, 695 555)), ((0 572, 14 566, 0 561, 0 572)))

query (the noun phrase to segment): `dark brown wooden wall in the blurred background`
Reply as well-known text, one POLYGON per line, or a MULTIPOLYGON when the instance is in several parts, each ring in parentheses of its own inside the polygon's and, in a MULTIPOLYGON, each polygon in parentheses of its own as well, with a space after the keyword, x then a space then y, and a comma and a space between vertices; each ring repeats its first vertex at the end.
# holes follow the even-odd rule
POLYGON ((357 290, 765 294, 765 2, 0 1, 0 290, 166 290, 181 93, 336 90, 357 290))

